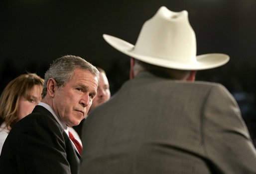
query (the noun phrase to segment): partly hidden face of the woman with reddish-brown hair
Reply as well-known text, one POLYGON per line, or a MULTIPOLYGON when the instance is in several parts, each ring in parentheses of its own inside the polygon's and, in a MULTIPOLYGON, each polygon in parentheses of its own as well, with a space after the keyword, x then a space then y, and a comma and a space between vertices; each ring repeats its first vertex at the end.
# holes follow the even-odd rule
POLYGON ((42 100, 42 90, 42 86, 34 85, 28 99, 25 96, 20 97, 18 103, 18 120, 32 113, 35 106, 42 100))

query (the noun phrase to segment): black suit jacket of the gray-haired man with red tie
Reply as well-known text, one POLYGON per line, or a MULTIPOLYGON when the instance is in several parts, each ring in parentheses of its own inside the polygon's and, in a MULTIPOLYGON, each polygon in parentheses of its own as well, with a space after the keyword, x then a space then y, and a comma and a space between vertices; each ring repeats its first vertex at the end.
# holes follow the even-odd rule
POLYGON ((63 128, 42 106, 18 121, 0 155, 1 174, 77 174, 79 157, 63 128))

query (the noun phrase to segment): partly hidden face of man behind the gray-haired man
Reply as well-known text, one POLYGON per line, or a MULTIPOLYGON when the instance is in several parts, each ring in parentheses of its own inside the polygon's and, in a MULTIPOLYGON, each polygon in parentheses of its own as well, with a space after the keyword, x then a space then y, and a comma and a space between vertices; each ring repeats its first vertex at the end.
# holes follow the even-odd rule
POLYGON ((97 95, 93 99, 93 104, 90 108, 92 112, 95 108, 100 106, 102 103, 107 102, 110 99, 110 85, 108 78, 105 73, 100 73, 100 81, 97 88, 97 95))

